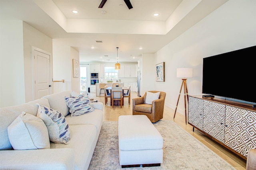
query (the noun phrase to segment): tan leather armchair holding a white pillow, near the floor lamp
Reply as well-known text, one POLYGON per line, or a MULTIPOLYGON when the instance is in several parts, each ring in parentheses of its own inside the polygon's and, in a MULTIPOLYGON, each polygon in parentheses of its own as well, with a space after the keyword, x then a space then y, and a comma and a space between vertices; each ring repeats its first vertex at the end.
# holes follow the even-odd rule
MULTIPOLYGON (((159 91, 148 92, 156 93, 159 91)), ((159 99, 154 100, 152 104, 145 104, 146 92, 144 96, 132 99, 132 115, 146 115, 153 123, 159 121, 163 118, 165 96, 165 92, 160 92, 159 99)))

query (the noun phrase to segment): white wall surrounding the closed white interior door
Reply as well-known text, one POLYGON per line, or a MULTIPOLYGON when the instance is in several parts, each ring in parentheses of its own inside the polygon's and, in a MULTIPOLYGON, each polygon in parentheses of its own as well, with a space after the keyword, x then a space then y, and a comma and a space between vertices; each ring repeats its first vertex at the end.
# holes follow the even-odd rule
MULTIPOLYGON (((25 74, 25 94, 26 102, 30 102, 33 99, 32 92, 32 46, 38 49, 42 49, 52 54, 52 39, 42 32, 38 31, 34 27, 23 22, 23 43, 24 43, 24 74, 25 74)), ((52 69, 52 59, 50 59, 50 67, 52 69)), ((51 75, 52 77, 52 75, 51 75)), ((52 89, 53 90, 53 89, 52 89)))

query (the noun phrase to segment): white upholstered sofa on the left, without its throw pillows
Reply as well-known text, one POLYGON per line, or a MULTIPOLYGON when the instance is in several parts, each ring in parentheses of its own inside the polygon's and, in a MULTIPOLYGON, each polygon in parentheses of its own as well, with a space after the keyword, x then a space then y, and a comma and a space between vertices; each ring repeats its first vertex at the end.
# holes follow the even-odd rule
POLYGON ((103 121, 103 104, 93 102, 94 111, 71 117, 64 100, 71 91, 51 94, 26 104, 0 108, 0 169, 87 170, 103 121), (8 138, 8 126, 22 113, 37 115, 38 105, 62 113, 70 128, 69 144, 52 143, 50 149, 14 150, 8 138))

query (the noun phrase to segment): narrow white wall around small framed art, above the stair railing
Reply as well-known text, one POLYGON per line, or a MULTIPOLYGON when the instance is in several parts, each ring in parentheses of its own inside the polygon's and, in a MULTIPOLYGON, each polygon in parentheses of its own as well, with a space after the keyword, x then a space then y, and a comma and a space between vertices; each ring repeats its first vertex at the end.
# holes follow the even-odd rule
POLYGON ((74 48, 70 47, 70 63, 71 63, 71 86, 72 90, 77 93, 80 93, 80 75, 79 77, 73 77, 73 59, 79 62, 79 52, 76 51, 74 48))

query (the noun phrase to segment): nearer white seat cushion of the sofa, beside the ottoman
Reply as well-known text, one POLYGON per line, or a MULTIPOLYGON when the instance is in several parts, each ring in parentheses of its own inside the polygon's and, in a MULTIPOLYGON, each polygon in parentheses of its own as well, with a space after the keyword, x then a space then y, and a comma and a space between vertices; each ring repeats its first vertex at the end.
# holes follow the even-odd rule
MULTIPOLYGON (((78 116, 79 117, 79 116, 78 116)), ((70 125, 69 145, 50 143, 51 149, 72 148, 75 153, 75 170, 88 169, 98 136, 94 125, 70 125)))

